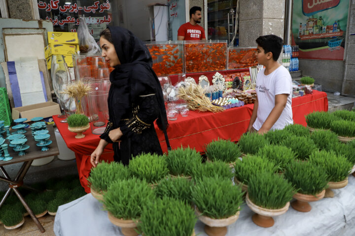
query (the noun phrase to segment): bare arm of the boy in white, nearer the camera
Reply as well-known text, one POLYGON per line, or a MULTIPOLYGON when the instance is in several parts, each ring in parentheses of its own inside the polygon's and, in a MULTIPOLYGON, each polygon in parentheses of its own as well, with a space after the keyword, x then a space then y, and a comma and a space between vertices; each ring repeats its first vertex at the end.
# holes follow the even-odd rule
MULTIPOLYGON (((281 113, 284 111, 284 108, 287 103, 287 97, 288 94, 278 94, 275 96, 275 107, 273 110, 271 110, 268 118, 266 118, 265 122, 261 126, 261 128, 258 130, 259 134, 264 134, 267 133, 272 126, 275 124, 275 122, 279 119, 281 116, 281 113)), ((254 114, 254 111, 253 111, 254 114)), ((251 119, 250 119, 251 120, 251 119)))

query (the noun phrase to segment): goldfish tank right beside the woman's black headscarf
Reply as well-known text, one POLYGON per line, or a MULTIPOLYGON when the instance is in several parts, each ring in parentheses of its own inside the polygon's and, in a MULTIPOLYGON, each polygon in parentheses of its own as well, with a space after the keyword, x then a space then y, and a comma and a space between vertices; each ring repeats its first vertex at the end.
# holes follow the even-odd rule
POLYGON ((183 41, 156 41, 145 44, 153 59, 157 76, 183 73, 183 41))

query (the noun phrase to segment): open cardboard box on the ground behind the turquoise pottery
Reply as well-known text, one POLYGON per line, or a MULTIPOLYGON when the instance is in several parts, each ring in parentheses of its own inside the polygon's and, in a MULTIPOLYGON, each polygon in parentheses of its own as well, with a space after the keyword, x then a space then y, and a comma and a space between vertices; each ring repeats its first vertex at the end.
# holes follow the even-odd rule
POLYGON ((34 117, 51 117, 61 114, 58 103, 42 102, 33 105, 12 108, 12 119, 27 118, 27 122, 34 117))

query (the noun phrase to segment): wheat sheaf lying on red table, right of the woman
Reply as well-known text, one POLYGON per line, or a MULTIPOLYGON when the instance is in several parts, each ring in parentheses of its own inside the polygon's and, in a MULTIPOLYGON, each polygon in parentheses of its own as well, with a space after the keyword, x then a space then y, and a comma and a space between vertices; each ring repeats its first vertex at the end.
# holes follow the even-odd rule
POLYGON ((185 88, 180 87, 178 90, 179 98, 185 100, 188 103, 190 110, 198 110, 201 112, 222 112, 223 107, 218 107, 212 104, 210 99, 205 96, 205 93, 201 86, 190 85, 185 88))

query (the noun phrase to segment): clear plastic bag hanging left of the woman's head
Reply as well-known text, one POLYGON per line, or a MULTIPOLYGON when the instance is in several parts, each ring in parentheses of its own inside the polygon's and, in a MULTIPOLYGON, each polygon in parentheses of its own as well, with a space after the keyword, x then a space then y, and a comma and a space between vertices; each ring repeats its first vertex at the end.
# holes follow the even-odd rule
POLYGON ((90 34, 89 28, 86 25, 85 18, 80 17, 80 25, 77 29, 79 39, 80 53, 86 53, 87 55, 94 55, 100 53, 100 47, 96 43, 94 37, 90 34))

